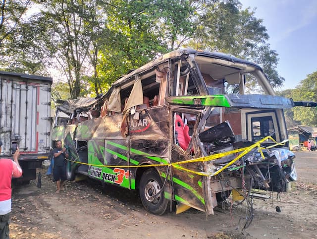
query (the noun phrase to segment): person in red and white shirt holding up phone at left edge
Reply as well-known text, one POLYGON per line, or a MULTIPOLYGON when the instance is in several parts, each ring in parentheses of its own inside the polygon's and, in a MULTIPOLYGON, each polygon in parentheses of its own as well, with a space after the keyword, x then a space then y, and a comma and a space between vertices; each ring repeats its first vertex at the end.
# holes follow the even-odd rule
MULTIPOLYGON (((0 142, 0 152, 1 152, 0 142)), ((0 159, 0 239, 9 239, 9 223, 11 212, 11 179, 22 176, 22 169, 19 165, 19 149, 11 159, 0 159)))

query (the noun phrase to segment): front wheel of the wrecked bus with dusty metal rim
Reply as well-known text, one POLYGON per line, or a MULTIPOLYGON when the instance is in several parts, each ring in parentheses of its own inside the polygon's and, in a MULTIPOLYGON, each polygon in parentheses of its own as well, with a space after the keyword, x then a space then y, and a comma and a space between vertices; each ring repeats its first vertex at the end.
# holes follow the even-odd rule
POLYGON ((143 173, 139 186, 140 198, 145 209, 155 215, 164 214, 168 206, 168 200, 164 198, 163 191, 156 195, 162 186, 163 183, 157 171, 147 170, 143 173))

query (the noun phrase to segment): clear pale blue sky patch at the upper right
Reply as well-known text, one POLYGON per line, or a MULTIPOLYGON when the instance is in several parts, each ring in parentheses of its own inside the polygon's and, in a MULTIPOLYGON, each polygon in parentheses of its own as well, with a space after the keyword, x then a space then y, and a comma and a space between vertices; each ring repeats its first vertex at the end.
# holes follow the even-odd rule
POLYGON ((240 0, 263 19, 271 50, 278 54, 277 71, 285 78, 280 90, 295 89, 317 71, 317 0, 240 0))

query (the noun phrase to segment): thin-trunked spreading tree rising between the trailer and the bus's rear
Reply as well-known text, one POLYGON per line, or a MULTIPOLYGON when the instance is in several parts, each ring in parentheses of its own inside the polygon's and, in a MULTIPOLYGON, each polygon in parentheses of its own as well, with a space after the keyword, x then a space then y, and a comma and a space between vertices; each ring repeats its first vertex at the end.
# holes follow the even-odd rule
POLYGON ((81 93, 81 77, 91 42, 96 15, 96 1, 52 0, 42 3, 43 9, 32 25, 37 29, 37 39, 64 72, 71 98, 81 93))

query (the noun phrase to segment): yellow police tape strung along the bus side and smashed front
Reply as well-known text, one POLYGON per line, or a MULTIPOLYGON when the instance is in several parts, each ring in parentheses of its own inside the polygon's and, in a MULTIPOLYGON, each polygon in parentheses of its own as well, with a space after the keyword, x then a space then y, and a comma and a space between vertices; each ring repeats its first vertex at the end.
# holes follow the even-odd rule
POLYGON ((83 164, 83 165, 90 165, 90 166, 98 166, 98 167, 107 167, 107 168, 141 168, 141 167, 162 167, 162 166, 172 166, 175 169, 181 170, 181 171, 186 171, 192 174, 196 174, 196 175, 201 175, 201 176, 215 176, 217 174, 220 174, 222 171, 224 171, 226 168, 228 168, 230 165, 234 164, 237 160, 239 160, 240 158, 242 158, 244 155, 246 155, 247 153, 249 153, 252 149, 258 147, 258 150, 261 153, 262 158, 264 158, 264 154, 262 152, 263 149, 267 149, 267 148, 272 148, 275 147, 277 145, 284 145, 286 142, 288 141, 288 139, 283 140, 282 142, 278 143, 276 142, 271 136, 267 136, 261 140, 259 140, 258 142, 252 144, 249 147, 245 147, 245 148, 241 148, 241 149, 235 149, 235 150, 231 150, 231 151, 227 151, 227 152, 223 152, 223 153, 218 153, 218 154, 213 154, 213 155, 209 155, 209 156, 205 156, 205 157, 201 157, 201 158, 197 158, 197 159, 190 159, 190 160, 184 160, 184 161, 180 161, 180 162, 176 162, 176 163, 166 163, 166 164, 151 164, 151 165, 99 165, 99 164, 88 164, 88 163, 83 163, 83 162, 78 162, 78 161, 73 161, 70 159, 67 159, 67 161, 73 162, 73 163, 77 163, 77 164, 83 164), (263 143, 266 140, 272 140, 275 144, 274 145, 270 145, 268 147, 261 147, 261 143, 263 143), (243 151, 243 152, 242 152, 243 151), (189 170, 186 168, 181 167, 181 164, 188 164, 188 163, 195 163, 195 162, 206 162, 206 161, 212 161, 224 156, 228 156, 230 154, 236 154, 242 152, 241 154, 239 154, 237 157, 235 157, 233 160, 231 160, 229 163, 227 163, 225 166, 223 166, 221 169, 217 170, 214 173, 206 173, 206 172, 196 172, 193 170, 189 170))

